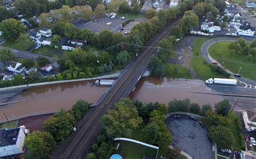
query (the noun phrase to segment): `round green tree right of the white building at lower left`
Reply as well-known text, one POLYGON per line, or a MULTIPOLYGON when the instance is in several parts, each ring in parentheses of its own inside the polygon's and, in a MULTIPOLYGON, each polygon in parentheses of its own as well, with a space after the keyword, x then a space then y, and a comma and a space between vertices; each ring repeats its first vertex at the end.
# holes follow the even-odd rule
POLYGON ((26 137, 24 146, 29 148, 29 152, 35 158, 49 158, 56 142, 48 132, 34 131, 26 137))

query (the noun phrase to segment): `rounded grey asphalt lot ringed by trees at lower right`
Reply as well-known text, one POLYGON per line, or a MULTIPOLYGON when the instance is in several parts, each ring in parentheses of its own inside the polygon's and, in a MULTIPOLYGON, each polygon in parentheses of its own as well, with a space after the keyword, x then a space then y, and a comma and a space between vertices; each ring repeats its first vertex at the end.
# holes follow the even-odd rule
POLYGON ((172 146, 177 147, 193 158, 212 158, 211 141, 207 139, 207 129, 191 120, 188 115, 180 115, 180 119, 168 117, 165 124, 172 134, 172 146))

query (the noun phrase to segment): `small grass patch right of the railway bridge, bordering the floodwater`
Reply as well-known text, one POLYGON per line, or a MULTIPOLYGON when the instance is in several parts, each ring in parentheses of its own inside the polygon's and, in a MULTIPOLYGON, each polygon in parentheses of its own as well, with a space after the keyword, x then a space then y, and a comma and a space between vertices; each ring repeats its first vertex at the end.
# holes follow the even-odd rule
POLYGON ((181 66, 180 64, 165 64, 166 74, 165 77, 168 78, 185 78, 190 79, 191 74, 188 72, 187 68, 181 66))

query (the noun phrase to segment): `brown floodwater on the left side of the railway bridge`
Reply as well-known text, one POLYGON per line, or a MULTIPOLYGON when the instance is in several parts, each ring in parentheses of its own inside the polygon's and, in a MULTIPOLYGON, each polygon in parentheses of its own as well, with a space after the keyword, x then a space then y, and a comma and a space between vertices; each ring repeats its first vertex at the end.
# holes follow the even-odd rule
MULTIPOLYGON (((95 103, 106 91, 107 87, 92 86, 91 82, 79 81, 33 87, 9 101, 35 100, 4 105, 0 107, 0 112, 4 112, 11 119, 11 117, 52 112, 60 108, 69 109, 79 98, 90 103, 95 103)), ((4 116, 1 113, 0 121, 3 120, 4 116)))

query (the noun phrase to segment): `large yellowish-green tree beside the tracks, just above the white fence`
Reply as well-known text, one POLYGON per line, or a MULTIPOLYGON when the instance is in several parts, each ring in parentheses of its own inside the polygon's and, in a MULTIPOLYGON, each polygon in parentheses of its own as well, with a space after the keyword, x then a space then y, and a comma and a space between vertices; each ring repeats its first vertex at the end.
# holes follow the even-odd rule
POLYGON ((121 99, 113 110, 107 110, 102 118, 102 127, 109 137, 130 137, 142 118, 130 99, 121 99))

